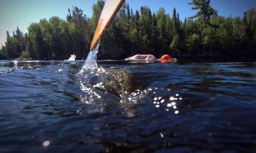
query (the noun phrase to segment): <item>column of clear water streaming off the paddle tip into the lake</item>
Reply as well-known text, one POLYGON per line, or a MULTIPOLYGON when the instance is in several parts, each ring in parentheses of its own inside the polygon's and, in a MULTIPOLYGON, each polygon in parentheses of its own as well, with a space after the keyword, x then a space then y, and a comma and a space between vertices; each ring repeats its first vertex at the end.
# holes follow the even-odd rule
POLYGON ((98 68, 97 63, 96 63, 98 49, 99 49, 99 42, 98 42, 97 46, 95 47, 95 49, 93 49, 88 54, 86 62, 83 63, 80 73, 83 73, 84 71, 86 71, 88 69, 97 69, 98 68))

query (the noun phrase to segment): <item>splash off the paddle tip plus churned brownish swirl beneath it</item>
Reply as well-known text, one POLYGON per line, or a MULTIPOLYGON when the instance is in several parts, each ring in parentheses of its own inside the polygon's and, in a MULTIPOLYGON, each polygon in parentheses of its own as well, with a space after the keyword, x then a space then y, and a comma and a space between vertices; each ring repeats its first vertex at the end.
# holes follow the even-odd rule
POLYGON ((118 101, 118 103, 122 102, 122 99, 131 93, 132 73, 125 68, 98 67, 96 62, 98 48, 99 43, 96 48, 88 54, 86 61, 77 74, 80 89, 86 94, 80 97, 81 101, 90 104, 102 103, 101 99, 115 97, 115 101, 118 101), (102 98, 102 96, 104 96, 104 98, 102 98))

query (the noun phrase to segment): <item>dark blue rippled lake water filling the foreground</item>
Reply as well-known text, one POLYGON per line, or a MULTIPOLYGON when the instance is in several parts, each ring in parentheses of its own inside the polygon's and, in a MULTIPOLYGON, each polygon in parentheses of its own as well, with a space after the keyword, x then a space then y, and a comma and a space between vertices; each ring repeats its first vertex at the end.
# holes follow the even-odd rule
POLYGON ((0 61, 0 152, 255 152, 256 63, 0 61))

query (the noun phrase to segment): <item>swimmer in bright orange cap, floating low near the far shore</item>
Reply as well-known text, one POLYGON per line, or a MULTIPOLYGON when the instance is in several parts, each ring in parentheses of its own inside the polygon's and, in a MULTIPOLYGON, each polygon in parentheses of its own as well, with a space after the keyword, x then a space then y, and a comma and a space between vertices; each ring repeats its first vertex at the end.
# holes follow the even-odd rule
POLYGON ((163 61, 163 60, 172 60, 172 58, 169 55, 163 55, 160 59, 157 59, 154 55, 135 55, 129 58, 126 58, 125 60, 146 60, 146 61, 163 61))

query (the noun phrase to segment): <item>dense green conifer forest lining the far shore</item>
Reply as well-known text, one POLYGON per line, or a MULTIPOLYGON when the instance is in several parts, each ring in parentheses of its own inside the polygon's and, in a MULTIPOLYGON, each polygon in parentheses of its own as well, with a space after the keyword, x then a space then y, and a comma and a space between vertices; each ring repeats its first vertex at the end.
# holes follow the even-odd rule
MULTIPOLYGON (((193 0, 195 16, 179 18, 164 8, 151 12, 147 6, 140 10, 124 3, 110 28, 101 38, 98 59, 124 59, 135 54, 153 54, 157 58, 169 54, 184 58, 254 58, 256 57, 256 10, 240 17, 223 17, 210 6, 210 0, 193 0)), ((104 6, 98 0, 87 17, 78 7, 68 9, 66 20, 51 17, 40 19, 28 27, 28 33, 18 28, 13 36, 6 32, 6 42, 0 59, 19 56, 34 60, 65 60, 75 54, 77 60, 89 53, 97 22, 104 6)))

